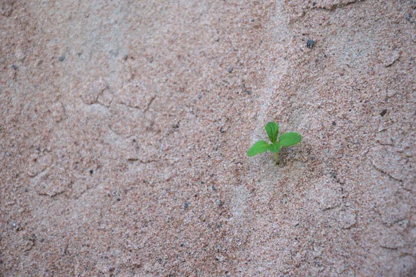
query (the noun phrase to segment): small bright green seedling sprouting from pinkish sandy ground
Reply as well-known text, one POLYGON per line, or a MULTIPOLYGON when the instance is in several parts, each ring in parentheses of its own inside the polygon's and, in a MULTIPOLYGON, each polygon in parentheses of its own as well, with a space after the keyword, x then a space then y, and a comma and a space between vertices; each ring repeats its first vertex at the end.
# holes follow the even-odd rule
POLYGON ((281 147, 298 144, 302 140, 302 135, 295 132, 289 132, 281 134, 279 140, 277 140, 279 125, 277 125, 275 122, 269 122, 264 128, 266 129, 272 144, 268 144, 264 140, 260 140, 259 142, 256 142, 250 149, 248 149, 247 155, 252 157, 259 153, 270 151, 275 153, 276 165, 279 165, 279 151, 281 147))

